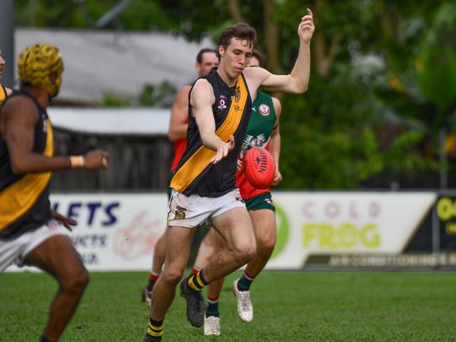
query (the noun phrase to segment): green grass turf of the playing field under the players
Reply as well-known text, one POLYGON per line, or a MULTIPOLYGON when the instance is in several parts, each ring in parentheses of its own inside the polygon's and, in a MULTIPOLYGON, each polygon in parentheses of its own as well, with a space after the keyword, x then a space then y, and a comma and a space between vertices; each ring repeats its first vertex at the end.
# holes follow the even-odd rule
MULTIPOLYGON (((203 336, 176 297, 163 341, 456 341, 456 273, 263 272, 255 309, 241 322, 225 282, 222 336, 203 336)), ((140 302, 147 273, 92 273, 60 341, 142 341, 149 313, 140 302)), ((0 341, 39 341, 57 286, 42 273, 0 275, 0 341)))

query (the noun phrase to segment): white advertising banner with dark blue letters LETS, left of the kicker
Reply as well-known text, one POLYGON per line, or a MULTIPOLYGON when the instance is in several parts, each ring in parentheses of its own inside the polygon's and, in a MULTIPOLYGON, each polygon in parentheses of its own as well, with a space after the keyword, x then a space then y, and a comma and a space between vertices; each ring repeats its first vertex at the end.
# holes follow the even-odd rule
POLYGON ((68 235, 89 271, 149 270, 166 228, 166 193, 55 194, 51 207, 78 221, 68 235))

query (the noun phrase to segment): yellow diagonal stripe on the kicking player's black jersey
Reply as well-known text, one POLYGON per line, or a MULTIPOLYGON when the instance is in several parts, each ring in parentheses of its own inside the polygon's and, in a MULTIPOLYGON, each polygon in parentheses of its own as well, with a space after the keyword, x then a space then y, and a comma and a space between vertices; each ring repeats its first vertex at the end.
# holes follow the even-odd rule
MULTIPOLYGON (((222 125, 215 131, 223 142, 228 142, 229 136, 233 135, 239 127, 243 116, 244 107, 248 98, 248 90, 242 75, 238 76, 236 83, 236 92, 227 117, 222 125), (237 96, 239 94, 239 96, 237 96)), ((201 172, 209 165, 209 162, 215 156, 215 151, 201 146, 175 173, 171 180, 170 187, 182 193, 187 186, 198 177, 201 172)))

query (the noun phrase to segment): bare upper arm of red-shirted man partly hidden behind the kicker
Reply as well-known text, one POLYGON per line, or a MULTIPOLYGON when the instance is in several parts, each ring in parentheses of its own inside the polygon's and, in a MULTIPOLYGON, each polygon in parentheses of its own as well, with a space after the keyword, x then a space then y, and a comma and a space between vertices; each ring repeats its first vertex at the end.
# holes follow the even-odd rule
POLYGON ((190 89, 192 89, 191 86, 182 88, 174 100, 168 129, 168 138, 171 142, 187 137, 190 89))

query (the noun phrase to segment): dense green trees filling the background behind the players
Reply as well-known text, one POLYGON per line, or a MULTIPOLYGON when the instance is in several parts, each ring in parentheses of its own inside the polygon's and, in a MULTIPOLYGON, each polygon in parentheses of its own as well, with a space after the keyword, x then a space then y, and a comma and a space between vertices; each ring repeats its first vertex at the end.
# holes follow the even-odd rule
MULTIPOLYGON (((89 28, 118 1, 17 0, 16 21, 89 28)), ((437 132, 456 128, 454 1, 133 0, 120 24, 199 40, 246 21, 267 69, 282 72, 293 67, 307 7, 316 22, 311 81, 305 95, 281 98, 281 186, 355 189, 379 175, 435 173, 437 132)), ((155 94, 145 88, 140 102, 155 94)))

